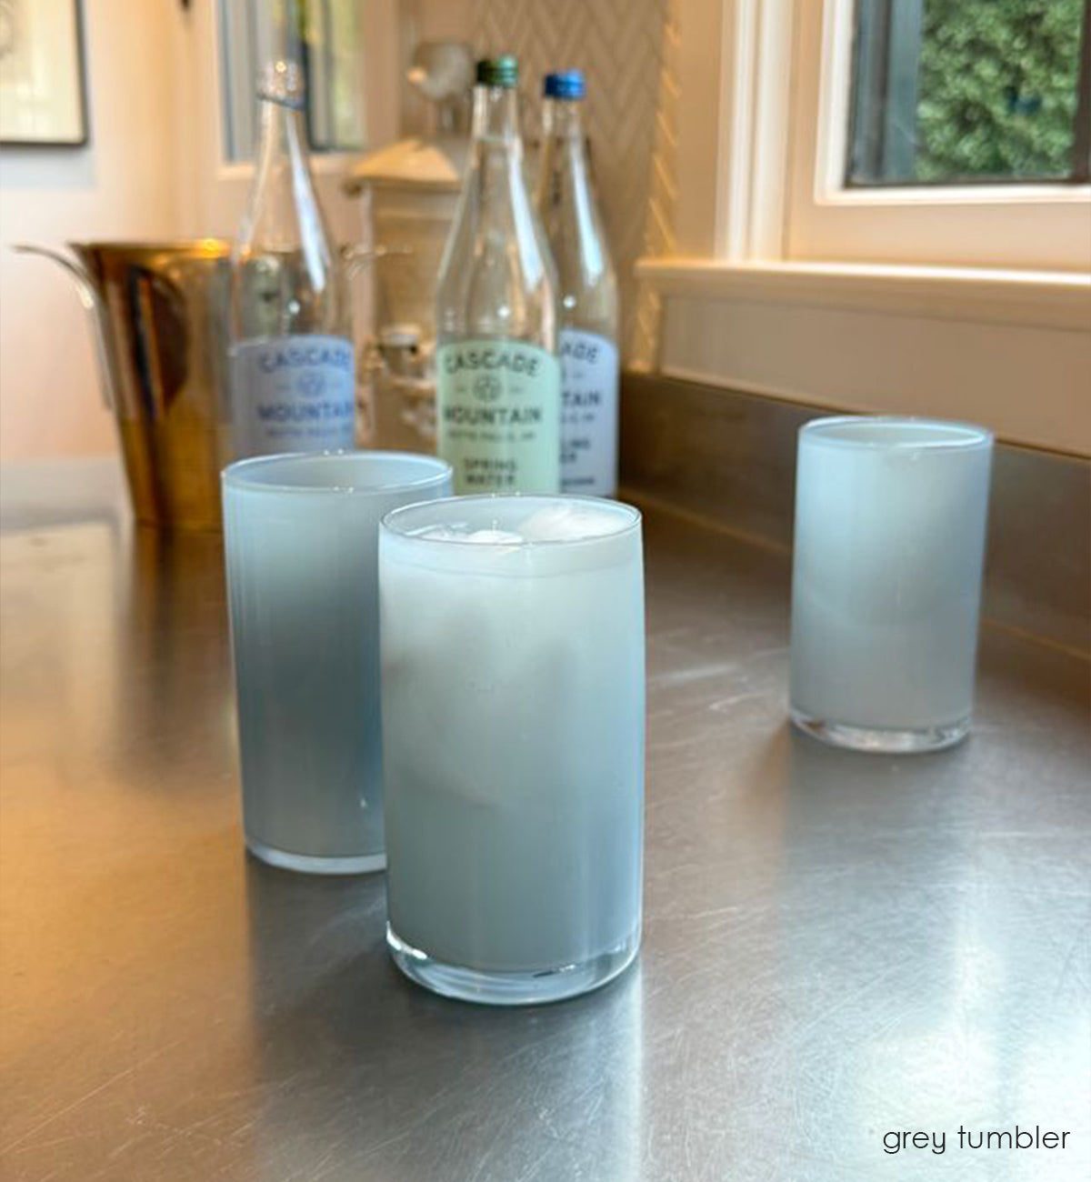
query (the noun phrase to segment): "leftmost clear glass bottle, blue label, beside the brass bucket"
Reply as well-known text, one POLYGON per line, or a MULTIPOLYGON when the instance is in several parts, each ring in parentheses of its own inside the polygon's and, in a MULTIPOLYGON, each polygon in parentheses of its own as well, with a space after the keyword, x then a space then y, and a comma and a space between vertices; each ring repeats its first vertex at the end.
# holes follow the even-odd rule
POLYGON ((272 63, 258 96, 261 142, 232 251, 234 452, 351 448, 351 306, 307 163, 299 67, 272 63))

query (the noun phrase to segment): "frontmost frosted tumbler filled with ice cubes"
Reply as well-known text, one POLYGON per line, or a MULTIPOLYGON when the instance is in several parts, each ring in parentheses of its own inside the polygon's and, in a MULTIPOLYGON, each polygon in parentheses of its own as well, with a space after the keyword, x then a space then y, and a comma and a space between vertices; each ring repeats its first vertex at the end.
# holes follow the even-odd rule
POLYGON ((641 939, 641 518, 469 496, 379 538, 388 944, 493 1005, 621 973, 641 939))

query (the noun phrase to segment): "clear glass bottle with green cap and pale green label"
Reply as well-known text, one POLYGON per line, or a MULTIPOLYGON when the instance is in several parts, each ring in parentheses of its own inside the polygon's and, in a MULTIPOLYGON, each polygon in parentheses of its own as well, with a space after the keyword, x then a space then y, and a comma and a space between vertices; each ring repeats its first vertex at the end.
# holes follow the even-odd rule
POLYGON ((436 292, 439 452, 456 493, 560 489, 557 279, 522 178, 513 57, 478 63, 436 292))

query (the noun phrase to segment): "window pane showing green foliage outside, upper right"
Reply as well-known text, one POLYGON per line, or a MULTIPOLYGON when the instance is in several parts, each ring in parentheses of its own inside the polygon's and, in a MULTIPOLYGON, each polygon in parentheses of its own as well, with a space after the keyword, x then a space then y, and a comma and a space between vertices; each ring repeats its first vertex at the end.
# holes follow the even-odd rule
POLYGON ((1091 0, 857 0, 851 186, 1086 177, 1091 0))

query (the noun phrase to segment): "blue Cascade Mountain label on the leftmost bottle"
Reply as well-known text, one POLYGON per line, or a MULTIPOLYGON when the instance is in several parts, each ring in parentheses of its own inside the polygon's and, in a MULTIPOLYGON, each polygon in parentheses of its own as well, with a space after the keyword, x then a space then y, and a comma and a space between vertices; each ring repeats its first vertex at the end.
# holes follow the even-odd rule
POLYGON ((262 337, 232 348, 236 456, 356 444, 356 359, 343 337, 262 337))

